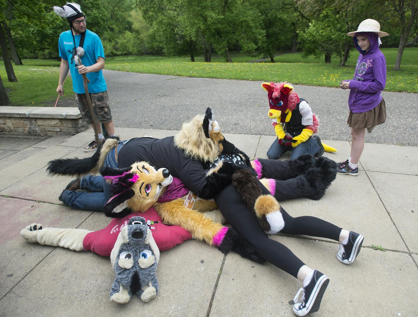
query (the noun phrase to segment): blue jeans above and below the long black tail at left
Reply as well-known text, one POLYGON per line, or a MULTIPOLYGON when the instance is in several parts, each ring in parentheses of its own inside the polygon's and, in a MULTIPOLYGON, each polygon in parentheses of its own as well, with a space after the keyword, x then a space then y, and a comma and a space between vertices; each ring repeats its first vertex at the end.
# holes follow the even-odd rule
MULTIPOLYGON (((117 146, 117 153, 119 153, 122 146, 129 140, 119 141, 117 146)), ((104 161, 105 167, 113 169, 118 168, 115 156, 116 148, 112 148, 106 156, 104 161)), ((89 192, 76 192, 65 190, 61 195, 61 200, 73 209, 80 210, 103 210, 104 204, 112 197, 110 192, 110 185, 104 181, 102 175, 87 175, 81 178, 80 189, 85 189, 89 192)))

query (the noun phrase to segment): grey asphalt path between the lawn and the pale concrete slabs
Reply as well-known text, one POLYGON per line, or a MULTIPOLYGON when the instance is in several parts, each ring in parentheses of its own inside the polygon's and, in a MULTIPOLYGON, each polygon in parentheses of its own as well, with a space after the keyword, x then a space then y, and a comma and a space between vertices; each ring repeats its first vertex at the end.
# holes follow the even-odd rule
MULTIPOLYGON (((224 132, 274 135, 261 82, 110 70, 105 70, 104 76, 118 127, 179 130, 184 121, 212 107, 224 132)), ((348 90, 301 85, 295 89, 318 116, 321 138, 351 140, 348 90)), ((387 121, 366 133, 366 142, 418 146, 418 94, 383 92, 383 97, 387 121)))

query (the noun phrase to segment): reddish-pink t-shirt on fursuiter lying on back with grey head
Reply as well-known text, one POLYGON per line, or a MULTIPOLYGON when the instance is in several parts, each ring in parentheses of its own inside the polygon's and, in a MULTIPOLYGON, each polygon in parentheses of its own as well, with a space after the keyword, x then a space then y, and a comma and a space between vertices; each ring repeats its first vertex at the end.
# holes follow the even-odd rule
POLYGON ((171 249, 183 241, 191 239, 191 234, 186 229, 177 225, 164 224, 155 208, 151 207, 146 212, 135 212, 123 218, 114 218, 106 228, 88 233, 83 240, 84 250, 101 256, 110 256, 120 230, 128 224, 130 218, 135 216, 144 217, 145 220, 151 222, 148 228, 153 233, 153 238, 160 251, 171 249))

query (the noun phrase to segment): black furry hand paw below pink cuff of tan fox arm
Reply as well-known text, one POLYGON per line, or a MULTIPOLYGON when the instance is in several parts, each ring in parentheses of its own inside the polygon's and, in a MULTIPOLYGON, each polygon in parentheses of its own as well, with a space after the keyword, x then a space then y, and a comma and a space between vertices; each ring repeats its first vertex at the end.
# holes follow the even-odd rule
POLYGON ((257 263, 265 262, 257 251, 255 251, 254 245, 242 238, 234 228, 228 228, 222 243, 217 248, 224 254, 228 254, 229 251, 234 251, 243 258, 248 258, 251 261, 257 263))

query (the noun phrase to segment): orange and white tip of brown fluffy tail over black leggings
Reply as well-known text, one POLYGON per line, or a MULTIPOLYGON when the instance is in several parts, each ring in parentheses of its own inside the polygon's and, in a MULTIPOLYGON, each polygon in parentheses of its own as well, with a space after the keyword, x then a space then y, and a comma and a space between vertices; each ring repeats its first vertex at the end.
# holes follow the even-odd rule
POLYGON ((258 197, 255 201, 254 210, 266 233, 275 234, 284 228, 285 223, 280 211, 281 207, 272 195, 258 197), (262 222, 267 222, 268 225, 262 222))

